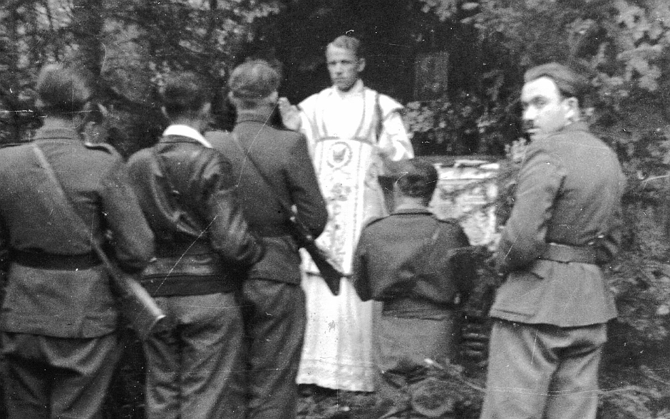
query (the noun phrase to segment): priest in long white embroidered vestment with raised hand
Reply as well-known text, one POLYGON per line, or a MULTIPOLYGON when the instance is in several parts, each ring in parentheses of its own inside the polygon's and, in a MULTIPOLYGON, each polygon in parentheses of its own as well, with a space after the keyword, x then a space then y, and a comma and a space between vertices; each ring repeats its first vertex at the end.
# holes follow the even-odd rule
MULTIPOLYGON (((326 48, 333 86, 298 106, 280 100, 284 125, 306 135, 329 209, 319 243, 351 274, 359 233, 387 214, 378 176, 414 157, 400 103, 366 88, 360 42, 340 36, 326 48)), ((349 279, 333 296, 303 252, 307 326, 297 382, 350 391, 373 390, 373 303, 362 302, 349 279)))

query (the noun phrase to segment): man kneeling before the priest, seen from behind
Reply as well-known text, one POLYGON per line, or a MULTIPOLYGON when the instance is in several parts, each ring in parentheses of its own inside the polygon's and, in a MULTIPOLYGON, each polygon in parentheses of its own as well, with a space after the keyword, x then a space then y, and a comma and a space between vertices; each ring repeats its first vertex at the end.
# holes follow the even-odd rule
POLYGON ((379 413, 388 417, 409 408, 408 384, 420 378, 426 358, 444 363, 455 357, 457 310, 475 279, 463 229, 428 210, 435 167, 409 160, 397 176, 395 211, 364 227, 354 257, 361 300, 383 302, 374 328, 375 390, 379 413))

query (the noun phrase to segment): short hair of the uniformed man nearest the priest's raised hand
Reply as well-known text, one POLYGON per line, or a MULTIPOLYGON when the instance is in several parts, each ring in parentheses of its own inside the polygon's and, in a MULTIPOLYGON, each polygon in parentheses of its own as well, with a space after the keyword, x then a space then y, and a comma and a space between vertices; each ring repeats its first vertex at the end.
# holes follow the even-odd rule
POLYGON ((279 88, 279 71, 264 60, 247 61, 230 73, 228 87, 237 105, 256 108, 279 88))

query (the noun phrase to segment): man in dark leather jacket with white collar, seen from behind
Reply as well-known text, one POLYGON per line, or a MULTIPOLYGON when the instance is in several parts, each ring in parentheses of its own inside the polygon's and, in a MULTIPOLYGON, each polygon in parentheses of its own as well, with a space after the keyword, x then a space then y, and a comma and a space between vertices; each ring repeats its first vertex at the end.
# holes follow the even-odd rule
POLYGON ((210 90, 192 73, 165 85, 170 126, 130 158, 130 176, 156 237, 142 284, 171 326, 143 344, 148 418, 244 418, 242 317, 234 290, 258 262, 230 163, 202 138, 210 90))

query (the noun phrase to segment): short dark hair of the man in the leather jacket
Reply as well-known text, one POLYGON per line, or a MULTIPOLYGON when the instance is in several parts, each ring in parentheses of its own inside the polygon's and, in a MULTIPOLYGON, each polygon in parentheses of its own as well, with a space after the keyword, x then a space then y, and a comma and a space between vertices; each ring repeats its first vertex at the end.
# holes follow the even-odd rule
POLYGON ((170 73, 163 87, 163 106, 168 118, 197 113, 211 102, 212 90, 195 73, 170 73))

